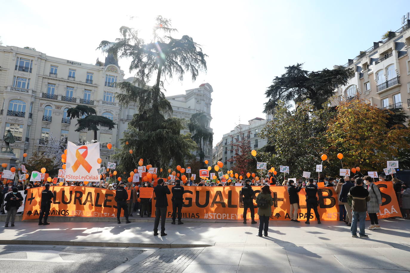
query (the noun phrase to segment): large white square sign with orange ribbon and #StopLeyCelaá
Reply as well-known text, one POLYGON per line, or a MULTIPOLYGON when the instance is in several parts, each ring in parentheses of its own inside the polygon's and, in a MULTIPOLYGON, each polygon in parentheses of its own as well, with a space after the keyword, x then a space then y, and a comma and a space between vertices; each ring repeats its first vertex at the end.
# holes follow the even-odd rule
POLYGON ((100 181, 100 142, 77 146, 67 142, 66 181, 100 181))

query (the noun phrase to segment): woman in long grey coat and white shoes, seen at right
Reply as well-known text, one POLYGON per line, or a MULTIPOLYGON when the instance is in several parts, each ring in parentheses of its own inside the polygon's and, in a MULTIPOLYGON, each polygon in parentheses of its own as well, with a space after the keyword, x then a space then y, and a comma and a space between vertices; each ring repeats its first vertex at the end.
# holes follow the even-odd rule
POLYGON ((371 221, 371 225, 368 229, 379 229, 379 221, 377 219, 377 214, 380 212, 380 206, 382 205, 382 196, 380 190, 376 184, 373 183, 370 176, 363 177, 364 183, 367 185, 367 191, 369 192, 370 200, 367 201, 367 213, 371 221))

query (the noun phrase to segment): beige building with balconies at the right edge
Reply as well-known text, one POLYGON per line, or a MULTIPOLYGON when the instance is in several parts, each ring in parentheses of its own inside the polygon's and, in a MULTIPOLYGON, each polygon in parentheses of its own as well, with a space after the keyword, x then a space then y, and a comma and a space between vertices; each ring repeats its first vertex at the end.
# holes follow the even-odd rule
MULTIPOLYGON (((395 32, 388 32, 368 50, 342 67, 354 74, 345 86, 335 89, 333 105, 353 97, 367 99, 379 108, 410 111, 410 20, 395 32), (403 103, 404 102, 404 103, 403 103)), ((337 65, 335 65, 337 67, 337 65)))

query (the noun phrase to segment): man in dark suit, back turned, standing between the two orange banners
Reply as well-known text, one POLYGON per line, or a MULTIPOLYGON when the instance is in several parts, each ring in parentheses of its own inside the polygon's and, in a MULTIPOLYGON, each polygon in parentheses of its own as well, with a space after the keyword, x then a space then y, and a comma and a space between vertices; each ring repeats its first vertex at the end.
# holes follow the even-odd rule
POLYGON ((155 192, 155 221, 154 221, 154 236, 158 235, 159 217, 161 217, 161 236, 166 236, 165 233, 165 218, 166 208, 168 207, 167 194, 171 194, 168 186, 164 185, 164 179, 158 179, 158 185, 154 188, 155 192))

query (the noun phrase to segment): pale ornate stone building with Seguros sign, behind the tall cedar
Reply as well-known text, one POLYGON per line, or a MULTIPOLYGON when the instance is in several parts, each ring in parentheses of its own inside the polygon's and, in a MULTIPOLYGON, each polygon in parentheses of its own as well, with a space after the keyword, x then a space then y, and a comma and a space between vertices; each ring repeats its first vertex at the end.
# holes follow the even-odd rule
MULTIPOLYGON (((112 55, 105 62, 97 59, 93 65, 0 45, 0 132, 5 135, 10 129, 15 136, 11 148, 19 158, 17 163, 26 159, 23 153, 30 158, 34 152, 43 151, 51 133, 76 144, 93 140, 93 131, 76 132, 77 121, 67 117, 68 108, 87 105, 95 108, 97 115, 117 123, 112 130, 101 127, 97 132, 101 159, 106 165, 111 152, 107 144, 118 147, 128 122, 138 113, 138 105, 124 108, 116 102, 115 93, 120 92, 117 82, 122 81, 124 72, 112 55)), ((211 93, 212 87, 205 83, 187 90, 185 95, 169 97, 175 107, 173 116, 189 120, 192 113, 205 111, 211 120, 211 93)), ((0 147, 5 149, 4 141, 0 141, 0 147)), ((208 156, 210 160, 210 152, 208 156)))

